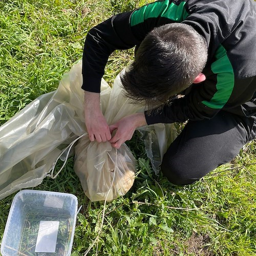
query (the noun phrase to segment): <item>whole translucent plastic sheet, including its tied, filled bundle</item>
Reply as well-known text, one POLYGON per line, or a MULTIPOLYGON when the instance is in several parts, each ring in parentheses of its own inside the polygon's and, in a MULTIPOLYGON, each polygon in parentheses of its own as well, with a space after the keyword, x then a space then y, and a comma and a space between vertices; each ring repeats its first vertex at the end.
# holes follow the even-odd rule
MULTIPOLYGON (((40 184, 65 148, 87 133, 81 70, 80 60, 63 75, 56 91, 39 96, 0 127, 0 199, 20 188, 40 184)), ((132 104, 124 96, 120 74, 112 88, 102 79, 100 100, 102 113, 109 124, 145 110, 143 105, 132 104)), ((139 131, 157 173, 162 156, 175 137, 174 125, 150 125, 139 131)), ((108 201, 131 188, 136 160, 125 144, 116 153, 109 142, 91 142, 88 135, 78 140, 74 169, 92 201, 105 199, 113 181, 111 170, 116 154, 116 176, 108 201)), ((63 154, 62 158, 65 157, 63 154)))

